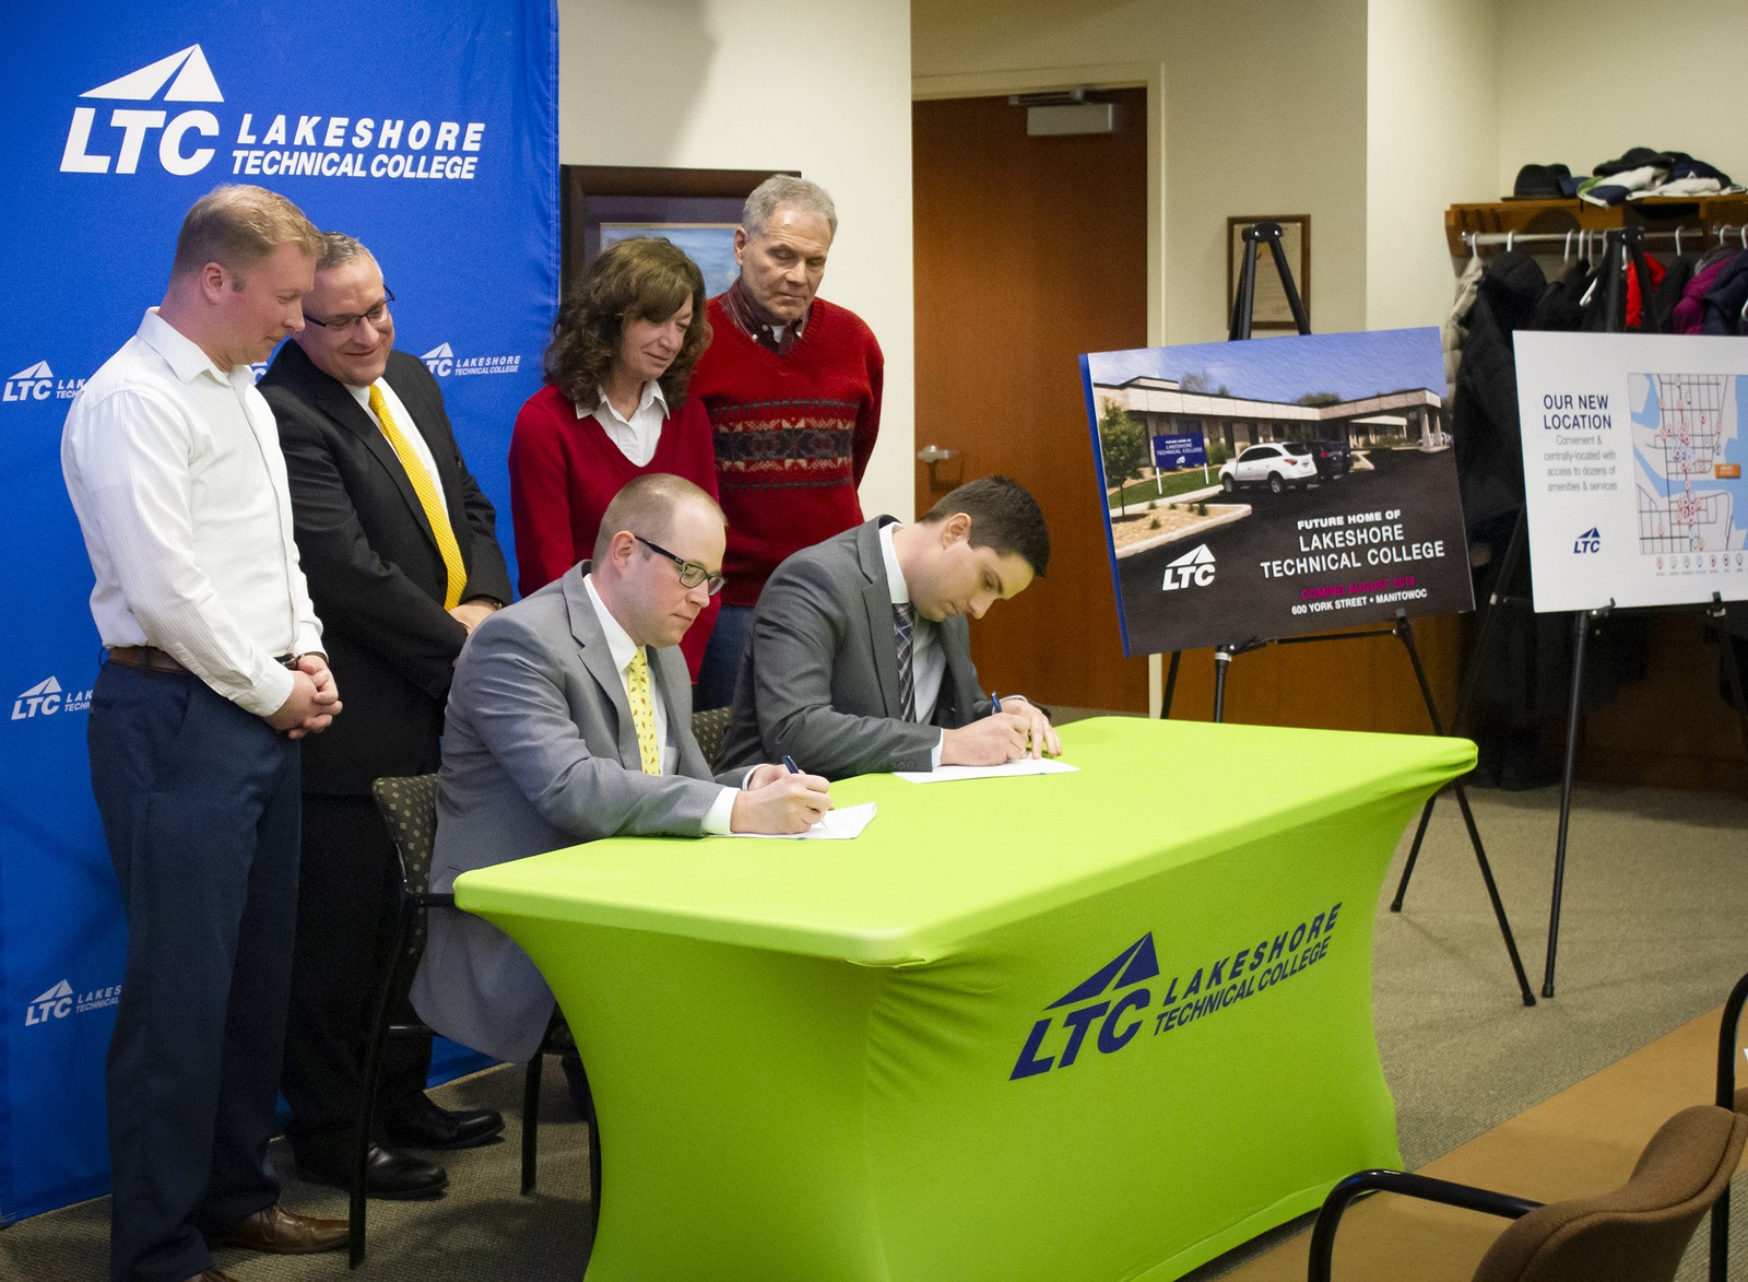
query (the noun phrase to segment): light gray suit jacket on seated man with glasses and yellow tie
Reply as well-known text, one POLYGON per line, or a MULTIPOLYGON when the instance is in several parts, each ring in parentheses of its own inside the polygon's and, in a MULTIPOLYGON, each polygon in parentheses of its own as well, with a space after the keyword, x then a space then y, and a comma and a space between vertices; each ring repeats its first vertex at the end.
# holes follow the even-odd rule
MULTIPOLYGON (((589 563, 486 619, 449 687, 432 890, 474 867, 603 836, 699 836, 720 794, 692 738, 692 687, 678 647, 650 651, 675 773, 638 768, 636 731, 594 602, 589 563)), ((739 784, 739 771, 724 784, 739 784)), ((552 992, 484 918, 435 909, 413 1006, 437 1032, 502 1060, 528 1060, 552 992)))

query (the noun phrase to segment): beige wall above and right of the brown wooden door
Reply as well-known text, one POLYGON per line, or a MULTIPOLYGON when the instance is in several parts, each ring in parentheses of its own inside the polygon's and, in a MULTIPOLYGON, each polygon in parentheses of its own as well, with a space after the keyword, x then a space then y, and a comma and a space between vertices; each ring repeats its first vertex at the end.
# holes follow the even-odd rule
POLYGON ((1365 0, 914 0, 911 51, 930 96, 1159 68, 1155 341, 1225 338, 1232 213, 1309 213, 1313 327, 1365 324, 1365 0))

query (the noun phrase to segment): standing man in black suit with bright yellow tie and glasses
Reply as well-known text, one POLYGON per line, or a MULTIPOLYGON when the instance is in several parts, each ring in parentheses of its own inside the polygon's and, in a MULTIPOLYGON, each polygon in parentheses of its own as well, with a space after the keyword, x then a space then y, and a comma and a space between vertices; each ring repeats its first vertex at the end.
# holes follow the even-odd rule
MULTIPOLYGON (((395 352, 376 259, 329 233, 306 327, 260 380, 290 479, 292 518, 329 654, 348 684, 343 735, 304 754, 302 869, 281 1086, 299 1172, 350 1188, 372 1000, 390 967, 393 840, 371 799, 381 775, 437 770, 461 644, 510 598, 491 504, 468 476, 437 381, 395 352), (353 694, 357 691, 357 694, 353 694)), ((406 1009, 406 983, 399 1000, 406 1009)), ((430 1046, 390 1039, 371 1196, 427 1196, 442 1167, 399 1147, 458 1149, 503 1128, 425 1095, 430 1046)))

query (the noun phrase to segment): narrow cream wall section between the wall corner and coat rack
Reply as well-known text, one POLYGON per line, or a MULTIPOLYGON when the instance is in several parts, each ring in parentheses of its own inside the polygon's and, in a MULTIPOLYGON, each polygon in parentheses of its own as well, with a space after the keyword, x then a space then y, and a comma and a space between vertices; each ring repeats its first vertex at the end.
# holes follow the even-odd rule
POLYGON ((1370 2, 1367 329, 1442 324, 1453 292, 1446 208, 1510 191, 1495 189, 1498 40, 1496 0, 1370 2))

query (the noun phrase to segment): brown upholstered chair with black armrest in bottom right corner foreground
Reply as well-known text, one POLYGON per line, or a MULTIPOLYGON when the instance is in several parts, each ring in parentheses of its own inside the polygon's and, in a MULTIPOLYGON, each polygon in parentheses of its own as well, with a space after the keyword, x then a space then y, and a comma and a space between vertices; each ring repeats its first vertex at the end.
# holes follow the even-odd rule
POLYGON ((1328 1282, 1341 1212, 1365 1193, 1404 1193, 1514 1219, 1474 1282, 1669 1282, 1694 1230, 1729 1188, 1748 1118, 1715 1104, 1682 1109, 1652 1135, 1633 1179, 1612 1193, 1542 1205, 1400 1170, 1362 1170, 1323 1202, 1311 1230, 1311 1282, 1328 1282))

